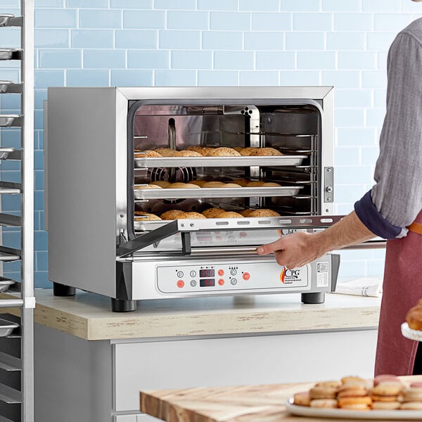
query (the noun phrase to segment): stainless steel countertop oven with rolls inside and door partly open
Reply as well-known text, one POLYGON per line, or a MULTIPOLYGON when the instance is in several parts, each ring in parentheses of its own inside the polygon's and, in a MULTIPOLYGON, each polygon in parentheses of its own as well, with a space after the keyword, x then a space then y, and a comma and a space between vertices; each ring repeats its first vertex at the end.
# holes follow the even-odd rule
POLYGON ((300 293, 324 302, 339 257, 298 269, 255 248, 335 222, 331 87, 50 88, 45 226, 56 295, 300 293))

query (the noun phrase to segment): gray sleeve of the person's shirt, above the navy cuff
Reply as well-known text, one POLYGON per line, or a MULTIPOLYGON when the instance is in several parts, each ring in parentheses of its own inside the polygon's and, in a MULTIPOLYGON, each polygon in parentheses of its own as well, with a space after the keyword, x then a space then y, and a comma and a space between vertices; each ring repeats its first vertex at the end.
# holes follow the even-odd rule
POLYGON ((404 30, 388 53, 387 109, 371 198, 390 224, 406 227, 422 209, 422 41, 404 30))

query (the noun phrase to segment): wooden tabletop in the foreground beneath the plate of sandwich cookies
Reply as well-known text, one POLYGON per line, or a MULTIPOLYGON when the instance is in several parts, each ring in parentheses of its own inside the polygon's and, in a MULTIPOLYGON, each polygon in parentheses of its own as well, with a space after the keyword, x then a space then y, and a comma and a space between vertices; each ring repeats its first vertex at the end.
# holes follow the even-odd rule
MULTIPOLYGON (((403 376, 400 378, 405 383, 422 381, 422 376, 403 376)), ((357 419, 350 418, 309 418, 293 416, 288 413, 283 403, 292 397, 295 392, 308 390, 313 384, 244 385, 146 391, 141 392, 141 411, 167 422, 357 421, 357 419)), ((392 412, 407 411, 396 410, 392 412)), ((422 411, 418 413, 422 415, 422 411)), ((360 420, 368 421, 371 418, 370 416, 371 411, 364 411, 360 420)), ((417 421, 421 421, 421 419, 422 416, 414 418, 417 421)), ((391 419, 383 418, 382 420, 388 422, 391 419)))

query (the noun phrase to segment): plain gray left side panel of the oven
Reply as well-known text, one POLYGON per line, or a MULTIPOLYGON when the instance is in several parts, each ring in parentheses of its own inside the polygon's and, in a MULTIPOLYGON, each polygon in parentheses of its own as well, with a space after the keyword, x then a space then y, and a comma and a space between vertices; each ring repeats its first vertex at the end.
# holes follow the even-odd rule
MULTIPOLYGON (((49 89, 46 154, 49 279, 113 298, 116 94, 113 88, 49 89)), ((126 178, 126 169, 119 171, 126 178)))

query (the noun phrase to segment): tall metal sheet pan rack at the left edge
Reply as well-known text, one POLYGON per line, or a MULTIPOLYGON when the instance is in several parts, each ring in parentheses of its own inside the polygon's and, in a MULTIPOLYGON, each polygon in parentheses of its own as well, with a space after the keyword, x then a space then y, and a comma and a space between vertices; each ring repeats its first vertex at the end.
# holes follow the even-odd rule
MULTIPOLYGON (((1 262, 20 262, 20 281, 0 277, 1 312, 18 308, 18 316, 4 314, 0 324, 0 422, 34 421, 34 0, 20 0, 20 16, 0 13, 4 27, 20 27, 20 48, 1 46, 0 60, 16 60, 20 81, 0 81, 0 96, 20 95, 20 114, 1 113, 1 131, 20 128, 20 148, 1 144, 0 160, 20 160, 20 183, 0 181, 0 198, 20 196, 20 215, 2 213, 1 226, 20 227, 20 249, 0 243, 1 262), (6 297, 7 296, 7 297, 6 297), (2 327, 1 327, 2 325, 2 327), (16 383, 16 373, 20 382, 16 383), (18 385, 17 385, 18 384, 18 385), (8 407, 8 404, 13 405, 8 407), (4 409, 4 410, 3 410, 4 409), (2 414, 6 413, 6 414, 2 414)), ((1 161, 0 161, 1 163, 1 161)), ((11 311, 12 312, 12 311, 11 311)))

